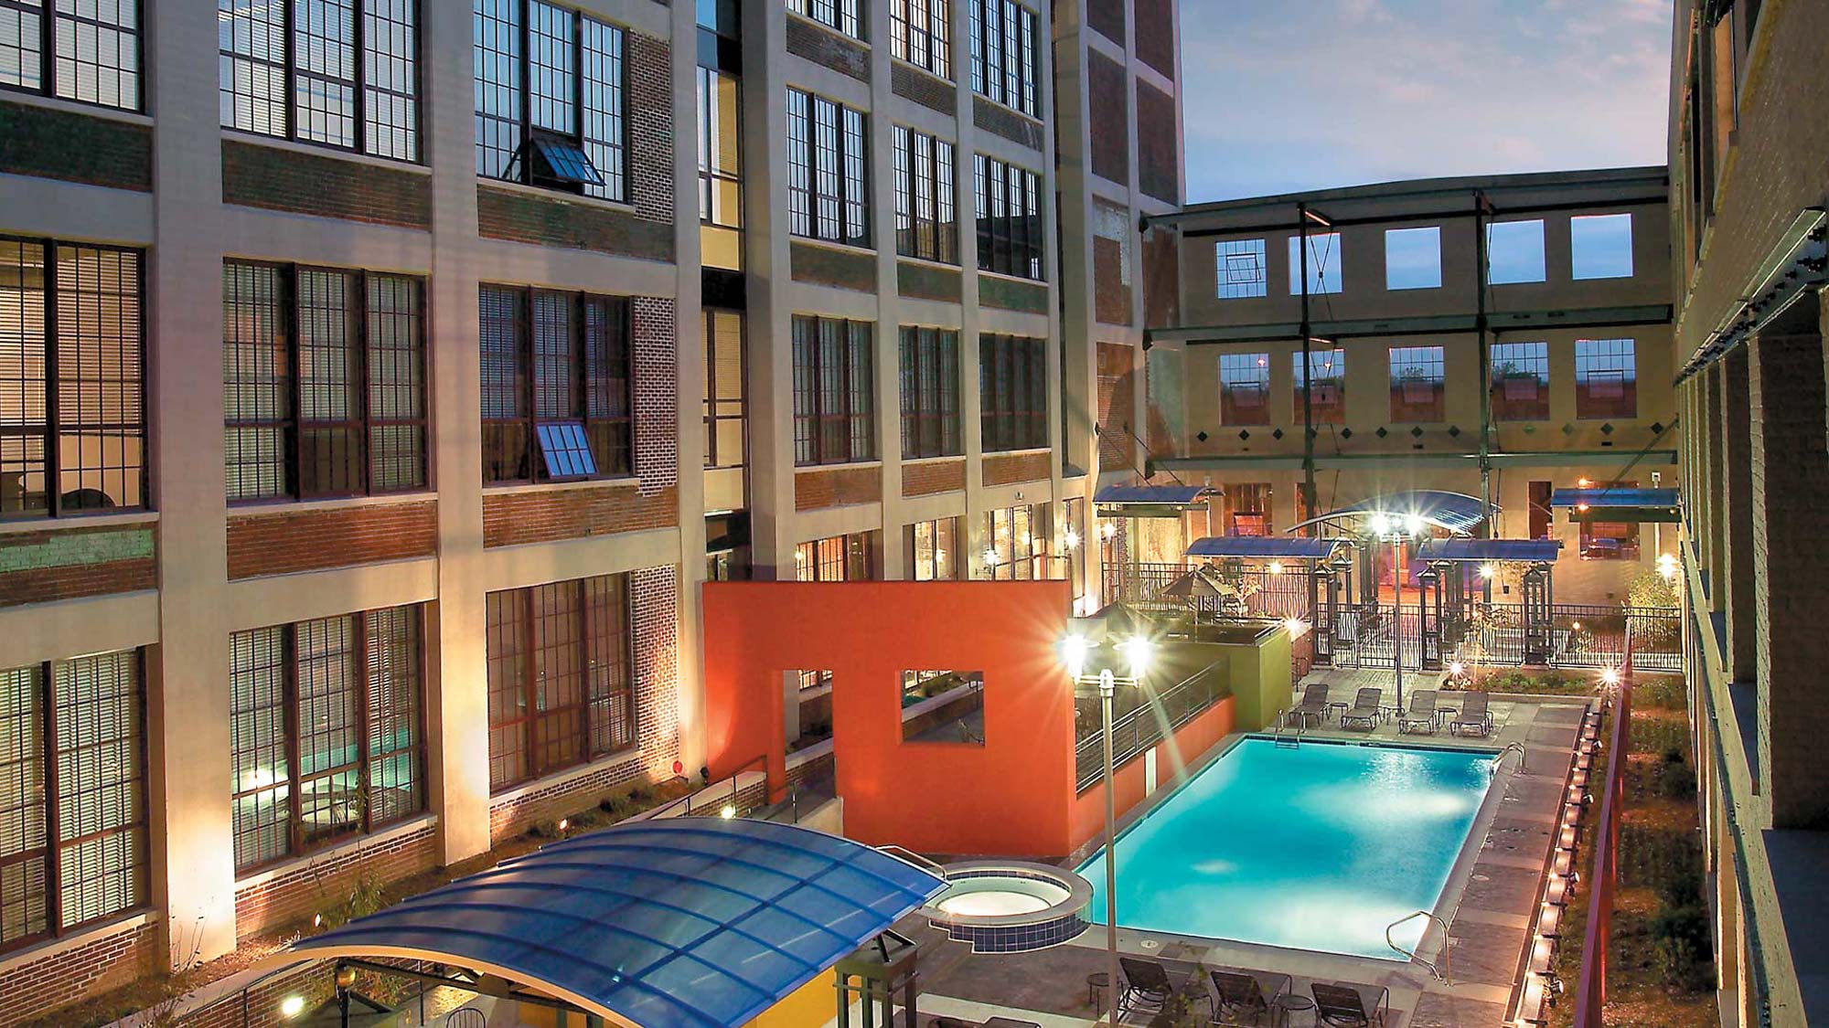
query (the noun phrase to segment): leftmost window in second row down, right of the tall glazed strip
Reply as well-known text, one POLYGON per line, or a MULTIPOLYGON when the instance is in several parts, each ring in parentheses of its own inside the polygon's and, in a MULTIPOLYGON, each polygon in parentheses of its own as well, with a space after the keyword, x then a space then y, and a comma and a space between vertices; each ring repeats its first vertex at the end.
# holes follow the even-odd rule
POLYGON ((788 88, 788 230, 871 245, 869 115, 788 88))

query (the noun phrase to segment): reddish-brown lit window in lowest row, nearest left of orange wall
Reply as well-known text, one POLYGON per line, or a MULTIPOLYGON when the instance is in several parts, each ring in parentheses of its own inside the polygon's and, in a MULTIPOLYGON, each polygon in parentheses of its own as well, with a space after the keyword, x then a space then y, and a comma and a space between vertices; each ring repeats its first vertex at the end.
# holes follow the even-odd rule
POLYGON ((488 594, 488 787, 635 744, 629 576, 488 594))

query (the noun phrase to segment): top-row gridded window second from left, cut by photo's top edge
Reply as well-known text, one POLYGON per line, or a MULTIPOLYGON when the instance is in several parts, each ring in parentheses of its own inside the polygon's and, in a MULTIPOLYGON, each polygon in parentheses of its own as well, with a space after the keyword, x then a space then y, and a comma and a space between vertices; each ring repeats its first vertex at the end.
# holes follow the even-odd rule
POLYGON ((216 0, 216 22, 225 128, 419 159, 419 0, 216 0))

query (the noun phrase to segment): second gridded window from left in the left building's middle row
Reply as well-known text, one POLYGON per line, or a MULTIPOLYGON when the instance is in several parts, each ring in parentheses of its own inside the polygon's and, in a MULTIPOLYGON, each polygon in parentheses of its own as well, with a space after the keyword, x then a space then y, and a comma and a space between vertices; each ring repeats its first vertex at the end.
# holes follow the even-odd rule
POLYGON ((225 263, 229 499, 424 487, 424 349, 417 278, 225 263))

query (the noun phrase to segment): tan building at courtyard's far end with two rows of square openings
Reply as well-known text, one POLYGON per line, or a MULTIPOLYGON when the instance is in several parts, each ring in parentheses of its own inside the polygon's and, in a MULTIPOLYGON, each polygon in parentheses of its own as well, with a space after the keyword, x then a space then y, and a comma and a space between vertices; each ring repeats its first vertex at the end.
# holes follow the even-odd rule
POLYGON ((1381 494, 1450 490, 1498 507, 1494 536, 1564 543, 1558 600, 1622 600, 1674 534, 1551 499, 1675 485, 1666 210, 1659 166, 1149 220, 1178 240, 1180 316, 1150 320, 1136 432, 1160 481, 1218 496, 1185 530, 1138 521, 1143 538, 1119 541, 1132 560, 1178 562, 1189 534, 1280 532, 1381 494))

